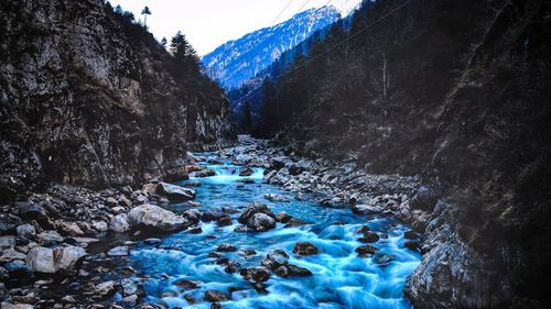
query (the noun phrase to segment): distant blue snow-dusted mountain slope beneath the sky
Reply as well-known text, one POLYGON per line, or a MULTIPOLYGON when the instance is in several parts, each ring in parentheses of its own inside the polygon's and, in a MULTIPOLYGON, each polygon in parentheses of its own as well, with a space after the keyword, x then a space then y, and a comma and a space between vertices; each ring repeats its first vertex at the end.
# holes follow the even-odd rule
POLYGON ((290 20, 229 41, 205 55, 205 71, 226 89, 239 87, 274 60, 281 54, 304 41, 353 10, 350 3, 358 0, 335 0, 336 7, 326 5, 301 12, 290 20), (338 9, 337 9, 338 8, 338 9))

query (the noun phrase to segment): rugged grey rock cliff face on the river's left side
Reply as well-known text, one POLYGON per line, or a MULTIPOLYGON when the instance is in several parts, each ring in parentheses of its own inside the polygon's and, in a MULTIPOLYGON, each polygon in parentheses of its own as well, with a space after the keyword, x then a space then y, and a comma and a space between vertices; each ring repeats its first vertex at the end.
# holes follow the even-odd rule
POLYGON ((234 139, 224 92, 101 0, 0 3, 0 188, 105 187, 179 175, 234 139))

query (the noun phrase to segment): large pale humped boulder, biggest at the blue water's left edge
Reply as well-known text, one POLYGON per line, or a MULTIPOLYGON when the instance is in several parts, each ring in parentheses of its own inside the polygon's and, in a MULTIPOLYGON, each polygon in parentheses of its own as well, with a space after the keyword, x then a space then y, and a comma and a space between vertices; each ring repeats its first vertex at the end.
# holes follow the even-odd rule
POLYGON ((128 222, 133 229, 156 229, 161 231, 184 230, 190 221, 182 216, 154 205, 136 207, 128 213, 128 222))

